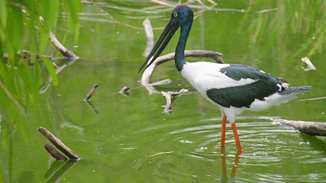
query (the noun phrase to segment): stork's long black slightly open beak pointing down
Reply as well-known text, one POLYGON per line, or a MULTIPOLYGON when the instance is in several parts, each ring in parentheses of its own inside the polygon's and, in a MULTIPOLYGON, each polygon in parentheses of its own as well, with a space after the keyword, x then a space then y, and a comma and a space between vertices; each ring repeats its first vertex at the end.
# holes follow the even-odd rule
POLYGON ((162 32, 161 36, 158 38, 155 46, 153 47, 152 51, 147 56, 144 64, 139 69, 138 73, 142 71, 142 69, 145 67, 145 65, 148 63, 148 61, 151 59, 151 62, 145 67, 144 70, 146 70, 154 61, 155 59, 161 54, 161 52, 164 50, 164 48, 168 45, 169 41, 173 37, 174 33, 177 31, 179 26, 177 25, 177 22, 171 22, 167 24, 164 31, 162 32), (164 42, 163 42, 164 41, 164 42), (157 50, 158 49, 158 50, 157 50), (157 50, 157 52, 156 52, 157 50), (155 54, 156 52, 156 54, 155 54), (155 54, 154 57, 152 57, 155 54))

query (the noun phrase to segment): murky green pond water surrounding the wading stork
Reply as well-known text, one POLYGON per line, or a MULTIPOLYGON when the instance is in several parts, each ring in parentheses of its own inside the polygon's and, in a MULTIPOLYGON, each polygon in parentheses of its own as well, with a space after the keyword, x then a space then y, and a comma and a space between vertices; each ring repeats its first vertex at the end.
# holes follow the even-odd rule
MULTIPOLYGON (((134 9, 153 5, 106 3, 134 9)), ((57 37, 65 39, 65 45, 81 58, 58 74, 59 85, 50 86, 40 96, 37 109, 31 107, 26 117, 28 144, 19 133, 13 133, 11 143, 0 152, 0 167, 12 182, 53 182, 60 175, 60 182, 325 181, 326 139, 271 124, 269 119, 326 121, 325 99, 298 101, 325 96, 324 46, 308 55, 315 41, 325 39, 316 34, 322 21, 318 10, 324 5, 309 5, 316 13, 313 17, 303 16, 303 25, 295 26, 301 15, 293 18, 293 14, 303 10, 292 3, 289 9, 293 12, 284 11, 292 6, 291 2, 285 7, 279 1, 261 5, 257 2, 251 13, 205 11, 194 20, 186 49, 219 51, 226 63, 255 66, 285 78, 292 86, 313 87, 287 104, 239 115, 236 124, 243 148, 240 156, 236 154, 229 124, 225 156, 221 156, 221 112, 217 106, 191 90, 174 101, 169 115, 162 113, 165 98, 160 94, 148 96, 141 87, 141 74, 137 72, 144 62, 146 46, 142 29, 82 20, 75 44, 73 35, 60 27, 60 21, 66 21, 61 16, 57 37), (279 9, 253 13, 270 8, 279 9), (74 45, 78 47, 73 48, 74 45), (303 71, 301 57, 307 55, 318 71, 303 71), (99 87, 91 103, 97 113, 83 102, 96 83, 99 87), (130 87, 128 97, 118 93, 123 86, 130 87), (53 159, 43 148, 47 141, 38 133, 38 127, 50 130, 82 159, 75 164, 56 162, 63 167, 57 172, 59 175, 51 177, 48 171, 53 159)), ((248 10, 248 1, 219 1, 218 7, 248 10)), ((104 10, 117 21, 141 28, 144 18, 158 15, 163 17, 151 18, 152 25, 164 27, 172 8, 165 8, 160 14, 104 10)), ((96 6, 88 5, 83 5, 82 12, 100 13, 96 6)), ((154 31, 155 40, 161 31, 154 31)), ((177 35, 164 53, 174 51, 177 35)), ((152 81, 163 79, 173 83, 157 86, 158 90, 191 88, 174 62, 155 70, 152 81)))

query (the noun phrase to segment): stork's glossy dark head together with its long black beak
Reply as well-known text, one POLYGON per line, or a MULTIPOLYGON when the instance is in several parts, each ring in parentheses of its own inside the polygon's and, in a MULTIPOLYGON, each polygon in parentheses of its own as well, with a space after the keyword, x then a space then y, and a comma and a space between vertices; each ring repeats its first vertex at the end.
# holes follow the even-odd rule
POLYGON ((191 25, 193 23, 193 18, 194 18, 194 13, 191 8, 189 8, 186 5, 177 6, 172 11, 170 21, 168 22, 167 26, 165 27, 161 36, 158 38, 152 51, 149 53, 144 64, 142 65, 142 67, 138 72, 140 72, 144 68, 144 66, 148 63, 148 61, 152 58, 150 63, 146 66, 146 68, 148 68, 168 45, 169 41, 171 40, 171 38, 173 37, 177 29, 180 26, 182 27, 183 25, 186 24, 191 25), (153 56, 154 54, 155 56, 153 56))

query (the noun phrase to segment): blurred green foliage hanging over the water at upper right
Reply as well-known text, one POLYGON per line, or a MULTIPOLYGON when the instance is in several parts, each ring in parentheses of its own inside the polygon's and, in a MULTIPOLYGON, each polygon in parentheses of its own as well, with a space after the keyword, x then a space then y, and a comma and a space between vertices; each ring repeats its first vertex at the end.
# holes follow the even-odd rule
MULTIPOLYGON (((321 52, 326 43, 326 4, 323 0, 316 1, 255 1, 248 7, 249 14, 244 16, 242 29, 247 29, 251 33, 253 44, 263 44, 264 51, 277 43, 278 40, 298 45, 295 40, 289 40, 286 35, 296 34, 306 38, 306 42, 301 44, 293 57, 311 57, 317 52, 321 52), (267 11, 258 11, 258 10, 267 11), (268 11, 273 10, 273 11, 268 11), (255 15, 258 13, 258 16, 255 15), (257 17, 254 21, 250 16, 257 17), (266 30, 272 30, 267 32, 266 30)), ((282 45, 279 45, 282 49, 282 45)))

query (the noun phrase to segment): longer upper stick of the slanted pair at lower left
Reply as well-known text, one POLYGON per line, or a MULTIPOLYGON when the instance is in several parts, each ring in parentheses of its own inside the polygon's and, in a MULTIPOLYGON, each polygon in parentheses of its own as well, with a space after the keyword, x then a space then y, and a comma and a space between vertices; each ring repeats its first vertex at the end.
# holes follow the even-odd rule
POLYGON ((78 161, 80 157, 74 153, 69 147, 61 142, 56 136, 49 132, 46 128, 39 127, 37 129, 45 138, 47 138, 53 145, 55 145, 63 154, 70 158, 70 160, 78 161))

